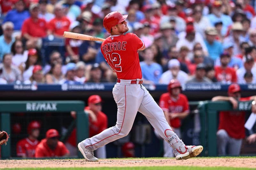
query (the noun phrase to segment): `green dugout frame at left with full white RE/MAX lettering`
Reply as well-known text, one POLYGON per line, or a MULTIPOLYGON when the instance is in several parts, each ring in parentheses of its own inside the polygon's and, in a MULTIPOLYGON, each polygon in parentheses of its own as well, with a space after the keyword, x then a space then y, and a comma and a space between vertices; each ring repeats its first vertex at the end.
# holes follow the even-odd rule
MULTIPOLYGON (((0 102, 0 130, 11 134, 11 116, 13 112, 70 112, 76 111, 77 142, 89 136, 88 115, 84 114, 84 101, 1 101, 0 102)), ((7 145, 2 145, 2 159, 11 156, 11 139, 7 145)), ((79 158, 83 158, 79 153, 79 158)))

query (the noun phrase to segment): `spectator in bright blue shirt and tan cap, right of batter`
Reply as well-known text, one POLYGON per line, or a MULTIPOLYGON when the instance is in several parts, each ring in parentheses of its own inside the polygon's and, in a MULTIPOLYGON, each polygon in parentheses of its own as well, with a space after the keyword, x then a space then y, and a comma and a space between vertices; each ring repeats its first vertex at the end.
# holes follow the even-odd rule
POLYGON ((216 40, 216 35, 218 35, 218 32, 214 27, 205 30, 206 39, 204 43, 207 47, 209 57, 213 60, 220 57, 220 54, 223 52, 222 44, 216 40))

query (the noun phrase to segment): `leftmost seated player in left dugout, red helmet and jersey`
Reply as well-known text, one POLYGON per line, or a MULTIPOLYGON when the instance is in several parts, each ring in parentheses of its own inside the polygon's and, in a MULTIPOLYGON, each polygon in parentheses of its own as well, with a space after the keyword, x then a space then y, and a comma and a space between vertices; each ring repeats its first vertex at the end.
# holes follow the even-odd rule
POLYGON ((41 125, 38 121, 31 121, 28 124, 28 137, 21 139, 16 145, 16 152, 18 157, 34 158, 36 146, 39 144, 37 140, 41 125))

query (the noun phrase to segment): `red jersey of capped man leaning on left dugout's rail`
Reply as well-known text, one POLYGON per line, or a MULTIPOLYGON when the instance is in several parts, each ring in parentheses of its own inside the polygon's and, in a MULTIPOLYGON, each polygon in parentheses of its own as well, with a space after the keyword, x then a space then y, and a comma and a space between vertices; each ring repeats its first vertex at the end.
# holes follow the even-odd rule
MULTIPOLYGON (((90 110, 89 106, 85 107, 84 110, 90 110)), ((97 121, 92 122, 91 117, 89 116, 89 137, 95 136, 108 128, 108 117, 105 113, 99 112, 97 115, 97 121)), ((71 135, 68 138, 68 143, 73 146, 76 144, 76 128, 71 132, 71 135)))

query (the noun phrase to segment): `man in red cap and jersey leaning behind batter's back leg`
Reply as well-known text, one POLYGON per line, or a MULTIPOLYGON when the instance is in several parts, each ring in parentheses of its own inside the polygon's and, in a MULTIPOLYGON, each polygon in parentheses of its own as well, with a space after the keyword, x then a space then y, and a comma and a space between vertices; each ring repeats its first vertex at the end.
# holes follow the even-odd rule
MULTIPOLYGON (((108 117, 105 113, 101 112, 102 99, 99 95, 92 95, 88 98, 88 106, 84 108, 84 111, 89 114, 89 137, 99 134, 103 130, 108 128, 108 117)), ((76 118, 76 112, 71 112, 71 116, 76 118)), ((68 138, 67 147, 71 150, 77 151, 76 143, 76 128, 72 131, 68 138)), ((72 151, 71 151, 72 152, 72 151)), ((74 154, 74 153, 71 153, 74 154)), ((95 150, 97 158, 106 158, 106 147, 103 146, 95 150)), ((75 154, 76 155, 76 152, 75 154)))

